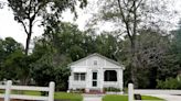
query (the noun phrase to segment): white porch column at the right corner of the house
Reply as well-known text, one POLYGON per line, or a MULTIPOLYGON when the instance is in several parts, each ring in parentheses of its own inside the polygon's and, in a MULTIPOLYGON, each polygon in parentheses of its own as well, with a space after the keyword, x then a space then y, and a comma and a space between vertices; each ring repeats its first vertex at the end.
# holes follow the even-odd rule
POLYGON ((117 70, 117 78, 118 78, 119 89, 123 90, 124 88, 123 69, 117 70))

